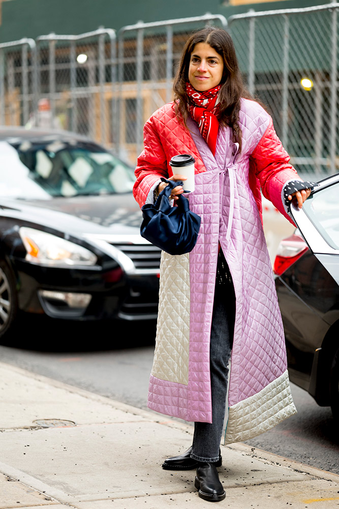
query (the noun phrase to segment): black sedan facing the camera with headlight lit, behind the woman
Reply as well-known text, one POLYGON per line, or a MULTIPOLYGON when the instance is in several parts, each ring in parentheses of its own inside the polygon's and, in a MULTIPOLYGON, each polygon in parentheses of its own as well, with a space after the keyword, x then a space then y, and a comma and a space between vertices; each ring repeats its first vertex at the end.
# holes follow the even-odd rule
POLYGON ((140 236, 133 169, 67 132, 0 129, 0 336, 18 310, 153 320, 160 249, 140 236))

